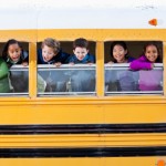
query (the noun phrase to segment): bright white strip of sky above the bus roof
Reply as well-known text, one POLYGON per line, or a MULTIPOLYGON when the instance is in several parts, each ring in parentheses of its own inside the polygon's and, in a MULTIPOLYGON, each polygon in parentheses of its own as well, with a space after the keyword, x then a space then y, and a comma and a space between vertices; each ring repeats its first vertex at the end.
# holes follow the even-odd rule
POLYGON ((139 8, 163 7, 165 0, 0 0, 1 9, 20 8, 139 8))

